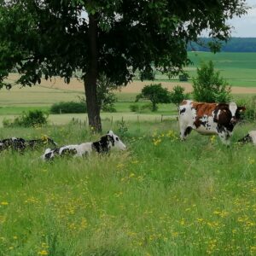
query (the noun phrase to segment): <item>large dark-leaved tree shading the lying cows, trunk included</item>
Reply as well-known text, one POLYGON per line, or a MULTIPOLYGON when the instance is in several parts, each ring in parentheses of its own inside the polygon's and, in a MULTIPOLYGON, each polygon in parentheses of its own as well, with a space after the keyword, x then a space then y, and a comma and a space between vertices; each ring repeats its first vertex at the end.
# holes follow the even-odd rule
POLYGON ((102 130, 96 81, 127 84, 134 73, 169 75, 189 63, 187 45, 208 28, 216 51, 225 23, 246 13, 245 0, 0 0, 0 84, 16 67, 17 84, 83 73, 89 124, 102 130))

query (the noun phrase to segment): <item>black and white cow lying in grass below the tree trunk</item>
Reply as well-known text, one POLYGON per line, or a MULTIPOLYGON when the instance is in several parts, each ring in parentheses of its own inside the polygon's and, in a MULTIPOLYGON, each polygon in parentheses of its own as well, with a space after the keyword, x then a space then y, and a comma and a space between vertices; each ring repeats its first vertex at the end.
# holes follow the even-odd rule
POLYGON ((81 143, 77 145, 67 145, 61 148, 47 148, 44 154, 41 156, 43 160, 51 160, 58 155, 73 155, 84 156, 95 151, 99 154, 108 153, 111 148, 117 148, 119 150, 125 150, 126 146, 122 143, 118 136, 116 136, 113 131, 108 131, 108 133, 101 137, 101 139, 95 143, 81 143))

